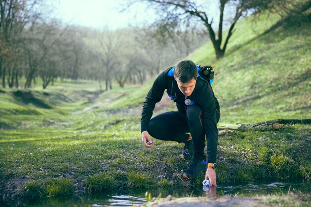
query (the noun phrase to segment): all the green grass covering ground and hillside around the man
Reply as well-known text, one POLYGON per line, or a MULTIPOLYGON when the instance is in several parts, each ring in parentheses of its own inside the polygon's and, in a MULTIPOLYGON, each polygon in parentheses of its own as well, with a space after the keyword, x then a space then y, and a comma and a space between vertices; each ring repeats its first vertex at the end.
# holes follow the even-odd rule
MULTIPOLYGON (((221 123, 255 123, 280 118, 310 118, 309 27, 271 28, 251 17, 238 22, 226 57, 216 60, 210 43, 189 59, 217 66, 213 88, 221 103, 221 123), (243 29, 243 30, 242 30, 243 29), (233 90, 234 89, 234 90, 233 90)), ((1 198, 53 197, 111 189, 188 186, 182 178, 190 161, 179 159, 183 144, 156 140, 142 146, 142 103, 153 81, 99 94, 87 80, 35 86, 40 103, 25 103, 15 89, 0 93, 1 198), (87 97, 96 97, 89 102, 87 97), (9 189, 15 189, 10 192, 9 189)), ((24 91, 24 90, 22 90, 24 91)), ((173 104, 167 110, 175 110, 173 104)), ((164 110, 155 112, 158 114, 164 110)), ((311 181, 310 125, 278 131, 235 130, 219 137, 217 182, 261 179, 311 181)), ((269 202, 269 201, 267 201, 269 202)))

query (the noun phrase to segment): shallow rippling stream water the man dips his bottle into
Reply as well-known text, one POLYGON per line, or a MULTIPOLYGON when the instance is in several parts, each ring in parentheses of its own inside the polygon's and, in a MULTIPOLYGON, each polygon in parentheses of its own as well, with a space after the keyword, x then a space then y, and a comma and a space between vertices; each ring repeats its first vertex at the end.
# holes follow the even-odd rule
POLYGON ((114 191, 92 196, 73 196, 63 198, 49 198, 32 203, 20 204, 20 207, 130 207, 139 206, 146 202, 145 193, 150 192, 153 197, 160 193, 162 198, 173 195, 174 197, 207 196, 218 198, 221 196, 239 195, 254 196, 268 194, 311 193, 310 183, 289 182, 253 182, 251 184, 222 184, 217 188, 203 188, 203 186, 189 188, 169 189, 140 189, 136 191, 114 191))

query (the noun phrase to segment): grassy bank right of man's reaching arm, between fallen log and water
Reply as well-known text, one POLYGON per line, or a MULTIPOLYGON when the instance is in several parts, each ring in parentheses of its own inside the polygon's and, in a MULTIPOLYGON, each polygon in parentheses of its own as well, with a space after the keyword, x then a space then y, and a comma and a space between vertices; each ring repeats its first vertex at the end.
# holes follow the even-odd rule
POLYGON ((295 125, 278 131, 236 131, 221 136, 219 165, 225 171, 219 170, 220 181, 308 178, 309 131, 310 126, 295 125))

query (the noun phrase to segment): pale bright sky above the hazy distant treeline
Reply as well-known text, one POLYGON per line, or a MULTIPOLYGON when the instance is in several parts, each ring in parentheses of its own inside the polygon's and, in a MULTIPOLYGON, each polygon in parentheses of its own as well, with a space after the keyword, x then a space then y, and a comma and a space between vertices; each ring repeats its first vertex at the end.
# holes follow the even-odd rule
POLYGON ((52 0, 55 16, 75 25, 111 30, 152 22, 156 15, 146 5, 136 3, 124 12, 127 0, 52 0))

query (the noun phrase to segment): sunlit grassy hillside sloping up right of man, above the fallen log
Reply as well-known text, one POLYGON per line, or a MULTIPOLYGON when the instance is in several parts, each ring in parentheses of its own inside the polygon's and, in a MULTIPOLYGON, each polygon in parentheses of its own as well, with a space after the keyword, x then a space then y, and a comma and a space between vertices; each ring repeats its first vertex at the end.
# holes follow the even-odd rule
POLYGON ((310 23, 295 24, 249 16, 236 25, 225 58, 215 59, 211 43, 188 57, 216 66, 221 123, 311 117, 310 23))

